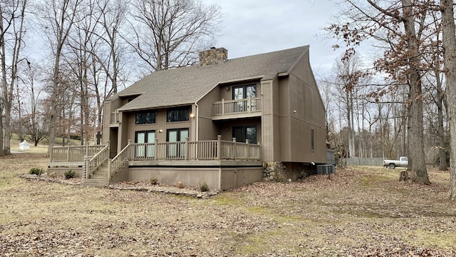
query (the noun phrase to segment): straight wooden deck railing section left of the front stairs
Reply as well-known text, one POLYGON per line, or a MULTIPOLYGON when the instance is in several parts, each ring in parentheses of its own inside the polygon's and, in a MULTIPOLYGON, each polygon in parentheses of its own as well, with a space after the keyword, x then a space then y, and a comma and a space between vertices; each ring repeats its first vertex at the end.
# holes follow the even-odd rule
POLYGON ((105 146, 53 146, 51 161, 83 161, 84 156, 94 156, 105 146))

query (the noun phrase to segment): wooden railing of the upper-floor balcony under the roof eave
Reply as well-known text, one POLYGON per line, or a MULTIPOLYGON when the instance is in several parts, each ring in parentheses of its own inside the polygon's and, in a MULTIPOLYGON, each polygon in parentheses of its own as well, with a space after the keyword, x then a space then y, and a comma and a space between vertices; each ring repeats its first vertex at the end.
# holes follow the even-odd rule
POLYGON ((261 112, 261 98, 217 101, 212 104, 212 115, 249 114, 261 112))

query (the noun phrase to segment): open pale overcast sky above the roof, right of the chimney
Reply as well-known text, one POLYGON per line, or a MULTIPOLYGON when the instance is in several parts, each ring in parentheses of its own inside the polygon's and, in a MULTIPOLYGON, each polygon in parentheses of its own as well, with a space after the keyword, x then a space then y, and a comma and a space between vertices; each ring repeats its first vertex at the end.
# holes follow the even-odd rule
POLYGON ((218 4, 222 31, 216 47, 228 50, 228 59, 310 46, 316 79, 331 71, 342 51, 336 41, 324 40, 323 27, 337 14, 334 0, 202 0, 218 4))

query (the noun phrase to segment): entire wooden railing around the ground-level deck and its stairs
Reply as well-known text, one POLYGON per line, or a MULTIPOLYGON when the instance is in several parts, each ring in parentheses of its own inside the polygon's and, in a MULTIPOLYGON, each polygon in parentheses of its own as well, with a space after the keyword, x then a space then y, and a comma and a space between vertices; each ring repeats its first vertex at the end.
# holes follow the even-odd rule
POLYGON ((85 178, 108 161, 108 178, 117 172, 128 161, 199 161, 199 160, 235 160, 261 161, 261 146, 259 144, 223 141, 222 136, 217 140, 131 143, 128 141, 122 151, 109 159, 109 144, 104 146, 69 146, 54 147, 51 151, 51 161, 84 161, 85 178), (84 148, 83 148, 84 147, 84 148), (81 149, 84 149, 83 153, 81 149), (98 152, 95 152, 97 151, 98 152), (78 154, 75 154, 78 153, 78 154), (68 158, 71 156, 71 158, 68 158))

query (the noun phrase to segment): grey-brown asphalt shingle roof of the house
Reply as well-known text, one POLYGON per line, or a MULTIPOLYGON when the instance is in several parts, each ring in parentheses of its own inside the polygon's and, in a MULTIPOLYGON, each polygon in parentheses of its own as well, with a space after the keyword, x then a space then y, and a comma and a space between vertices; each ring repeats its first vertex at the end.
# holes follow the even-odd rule
POLYGON ((192 104, 226 81, 253 77, 274 79, 277 74, 288 72, 306 51, 309 46, 228 59, 223 64, 155 71, 118 93, 120 97, 140 94, 119 110, 192 104))

